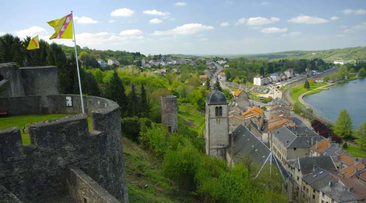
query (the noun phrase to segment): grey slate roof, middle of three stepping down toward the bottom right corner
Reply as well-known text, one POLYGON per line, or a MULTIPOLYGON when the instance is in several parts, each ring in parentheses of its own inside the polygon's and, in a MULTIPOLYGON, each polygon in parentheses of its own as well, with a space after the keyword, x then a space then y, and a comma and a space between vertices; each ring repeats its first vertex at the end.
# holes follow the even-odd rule
POLYGON ((327 170, 317 167, 315 172, 302 176, 302 180, 308 183, 313 189, 319 191, 321 188, 327 186, 329 181, 335 183, 338 179, 330 175, 327 170))

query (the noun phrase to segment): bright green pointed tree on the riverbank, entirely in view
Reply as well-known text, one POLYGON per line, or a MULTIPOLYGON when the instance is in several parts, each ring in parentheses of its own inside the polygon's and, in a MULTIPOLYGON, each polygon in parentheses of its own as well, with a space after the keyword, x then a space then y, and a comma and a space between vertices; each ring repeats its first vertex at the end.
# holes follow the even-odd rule
POLYGON ((334 133, 343 139, 349 139, 352 137, 352 127, 352 119, 350 115, 345 109, 342 110, 337 122, 334 124, 334 133))

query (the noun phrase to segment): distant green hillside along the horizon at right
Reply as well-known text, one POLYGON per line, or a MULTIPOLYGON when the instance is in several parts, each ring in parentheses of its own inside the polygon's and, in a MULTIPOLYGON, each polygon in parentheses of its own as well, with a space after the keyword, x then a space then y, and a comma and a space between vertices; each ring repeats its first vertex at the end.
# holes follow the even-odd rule
POLYGON ((268 59, 313 59, 322 58, 327 62, 334 60, 366 60, 366 47, 350 47, 344 49, 329 49, 318 51, 284 51, 265 54, 247 54, 247 55, 222 55, 227 58, 268 58, 268 59))

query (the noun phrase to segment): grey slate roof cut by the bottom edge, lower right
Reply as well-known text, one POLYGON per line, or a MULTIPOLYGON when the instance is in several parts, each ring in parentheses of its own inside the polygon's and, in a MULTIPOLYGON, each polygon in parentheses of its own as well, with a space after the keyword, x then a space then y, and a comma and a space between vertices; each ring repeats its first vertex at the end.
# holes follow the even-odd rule
POLYGON ((333 183, 332 186, 325 186, 320 191, 340 203, 357 199, 352 192, 348 191, 348 187, 341 183, 333 183))

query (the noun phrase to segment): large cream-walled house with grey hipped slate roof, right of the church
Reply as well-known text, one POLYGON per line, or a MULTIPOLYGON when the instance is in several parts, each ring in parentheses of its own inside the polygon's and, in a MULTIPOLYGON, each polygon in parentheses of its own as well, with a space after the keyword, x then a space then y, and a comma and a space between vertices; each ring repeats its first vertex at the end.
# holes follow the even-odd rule
MULTIPOLYGON (((280 162, 285 164, 285 161, 288 159, 309 156, 310 148, 315 142, 324 139, 316 133, 308 133, 306 136, 304 133, 298 133, 307 131, 306 128, 309 129, 306 126, 283 126, 270 132, 270 146, 280 162), (301 129, 298 130, 298 128, 301 129), (293 129, 297 130, 293 131, 293 129)), ((311 129, 309 129, 309 131, 311 131, 311 129)))

